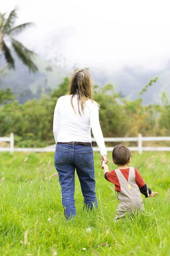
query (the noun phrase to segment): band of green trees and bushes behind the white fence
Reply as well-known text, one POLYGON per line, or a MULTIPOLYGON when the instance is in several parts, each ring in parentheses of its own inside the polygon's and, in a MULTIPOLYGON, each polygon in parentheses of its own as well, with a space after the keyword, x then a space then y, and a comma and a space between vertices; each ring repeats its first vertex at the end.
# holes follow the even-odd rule
MULTIPOLYGON (((49 96, 29 100, 23 105, 7 103, 0 110, 0 136, 14 133, 18 147, 43 147, 54 144, 53 115, 58 98, 68 94, 69 78, 49 96)), ((14 99, 11 91, 0 90, 0 104, 14 99)), ((94 99, 101 105, 100 125, 104 137, 170 135, 170 103, 165 93, 162 105, 142 105, 142 98, 122 98, 112 84, 94 86, 94 99)), ((112 144, 113 145, 113 144, 112 144)))

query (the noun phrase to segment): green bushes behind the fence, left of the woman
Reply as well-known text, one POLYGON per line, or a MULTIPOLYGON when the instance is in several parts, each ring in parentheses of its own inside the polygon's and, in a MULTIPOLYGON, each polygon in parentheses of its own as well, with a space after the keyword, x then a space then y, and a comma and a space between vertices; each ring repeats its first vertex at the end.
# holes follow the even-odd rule
POLYGON ((18 102, 6 104, 0 111, 0 131, 2 134, 14 132, 22 137, 22 142, 18 143, 22 147, 53 144, 52 123, 55 105, 56 100, 46 98, 39 101, 34 99, 24 105, 18 102))

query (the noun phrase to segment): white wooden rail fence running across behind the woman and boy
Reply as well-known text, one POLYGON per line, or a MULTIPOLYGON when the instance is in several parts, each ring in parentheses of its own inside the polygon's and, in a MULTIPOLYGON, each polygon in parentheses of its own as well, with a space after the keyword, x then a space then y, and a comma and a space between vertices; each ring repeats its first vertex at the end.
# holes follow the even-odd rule
MULTIPOLYGON (((170 147, 143 147, 143 141, 170 141, 170 137, 142 137, 142 134, 139 134, 138 137, 120 137, 120 138, 104 138, 105 142, 137 142, 137 147, 129 147, 131 151, 138 151, 139 154, 142 151, 170 151, 170 147)), ((0 137, 0 142, 9 142, 10 147, 0 148, 1 151, 10 151, 13 152, 54 152, 56 144, 50 145, 45 148, 14 148, 14 134, 11 133, 10 137, 0 137)), ((92 138, 92 142, 95 142, 95 139, 92 138)), ((106 147, 107 151, 112 151, 113 147, 106 147)), ((98 147, 93 147, 94 151, 100 151, 98 147)))

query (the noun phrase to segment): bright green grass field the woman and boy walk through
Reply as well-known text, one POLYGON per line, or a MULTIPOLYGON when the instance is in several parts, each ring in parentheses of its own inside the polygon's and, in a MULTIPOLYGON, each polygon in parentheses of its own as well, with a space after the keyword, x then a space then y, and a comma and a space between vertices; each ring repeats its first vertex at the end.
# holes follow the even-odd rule
MULTIPOLYGON (((51 176, 56 172, 53 154, 0 153, 0 173, 5 177, 0 183, 0 255, 170 255, 169 159, 170 153, 133 153, 131 166, 139 169, 159 196, 143 198, 143 215, 115 223, 119 203, 113 184, 104 179, 98 153, 95 172, 99 207, 83 212, 76 175, 77 217, 72 221, 65 221, 59 180, 51 176)), ((114 169, 111 154, 109 160, 108 166, 114 169)))

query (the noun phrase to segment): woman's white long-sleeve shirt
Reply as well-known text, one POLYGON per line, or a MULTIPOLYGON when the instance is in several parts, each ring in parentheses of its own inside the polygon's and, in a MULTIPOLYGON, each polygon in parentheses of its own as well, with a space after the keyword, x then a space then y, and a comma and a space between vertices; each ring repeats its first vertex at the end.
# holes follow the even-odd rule
MULTIPOLYGON (((100 148, 100 154, 107 154, 102 130, 99 123, 99 108, 96 102, 85 102, 84 114, 79 115, 77 96, 73 98, 74 109, 71 106, 71 95, 58 99, 55 111, 53 132, 57 142, 91 142, 91 128, 100 148)), ((80 108, 81 109, 81 108, 80 108)))

